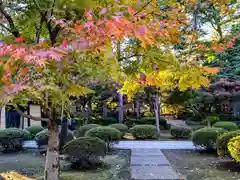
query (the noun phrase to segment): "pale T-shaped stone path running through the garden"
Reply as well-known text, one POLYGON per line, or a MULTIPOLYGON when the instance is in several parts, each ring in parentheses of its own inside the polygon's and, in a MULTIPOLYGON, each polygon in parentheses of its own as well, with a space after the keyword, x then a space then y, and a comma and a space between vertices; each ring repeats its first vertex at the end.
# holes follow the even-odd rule
POLYGON ((131 149, 131 180, 183 180, 161 149, 199 149, 191 141, 120 141, 114 147, 131 149))

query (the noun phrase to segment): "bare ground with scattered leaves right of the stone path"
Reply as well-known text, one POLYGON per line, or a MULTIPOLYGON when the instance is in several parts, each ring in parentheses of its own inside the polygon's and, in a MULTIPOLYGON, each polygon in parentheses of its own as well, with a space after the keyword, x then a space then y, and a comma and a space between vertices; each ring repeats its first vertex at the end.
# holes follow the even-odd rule
POLYGON ((187 180, 240 180, 240 164, 214 153, 194 150, 163 150, 163 153, 187 180))

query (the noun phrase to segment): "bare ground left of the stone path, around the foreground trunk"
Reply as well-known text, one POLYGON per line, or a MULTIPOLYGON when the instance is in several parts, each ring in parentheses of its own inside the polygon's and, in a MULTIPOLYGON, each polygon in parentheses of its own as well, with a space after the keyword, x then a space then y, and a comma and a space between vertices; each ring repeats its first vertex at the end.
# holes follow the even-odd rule
MULTIPOLYGON (((105 167, 89 171, 64 170, 63 175, 73 175, 81 180, 128 180, 130 177, 130 154, 128 150, 114 150, 104 158, 105 167)), ((0 173, 16 171, 27 177, 43 175, 45 156, 37 151, 0 153, 0 173)), ((61 163, 62 164, 62 163, 61 163)), ((75 179, 71 179, 75 180, 75 179)))

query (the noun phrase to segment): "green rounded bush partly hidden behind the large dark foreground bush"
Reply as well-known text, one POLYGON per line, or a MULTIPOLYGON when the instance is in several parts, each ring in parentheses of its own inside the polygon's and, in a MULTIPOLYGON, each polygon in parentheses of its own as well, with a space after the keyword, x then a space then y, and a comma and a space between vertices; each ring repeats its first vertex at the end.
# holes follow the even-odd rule
POLYGON ((102 126, 88 130, 85 133, 86 137, 98 137, 107 143, 108 148, 111 147, 112 143, 117 142, 121 139, 121 132, 113 127, 102 126))

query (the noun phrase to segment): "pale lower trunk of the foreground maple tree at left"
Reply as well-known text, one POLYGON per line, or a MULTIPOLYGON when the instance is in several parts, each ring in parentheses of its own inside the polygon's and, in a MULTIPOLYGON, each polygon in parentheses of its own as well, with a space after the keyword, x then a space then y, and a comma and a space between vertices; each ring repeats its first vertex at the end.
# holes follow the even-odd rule
POLYGON ((44 180, 59 180, 58 125, 56 112, 51 111, 48 124, 48 148, 44 170, 44 180))

